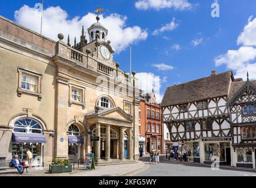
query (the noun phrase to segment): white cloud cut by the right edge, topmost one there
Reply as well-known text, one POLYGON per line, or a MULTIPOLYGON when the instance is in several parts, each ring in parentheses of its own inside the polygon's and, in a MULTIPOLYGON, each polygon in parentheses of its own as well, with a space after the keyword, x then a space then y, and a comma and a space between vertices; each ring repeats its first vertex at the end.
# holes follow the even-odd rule
POLYGON ((256 46, 256 18, 252 20, 250 16, 244 31, 238 36, 237 45, 256 46))

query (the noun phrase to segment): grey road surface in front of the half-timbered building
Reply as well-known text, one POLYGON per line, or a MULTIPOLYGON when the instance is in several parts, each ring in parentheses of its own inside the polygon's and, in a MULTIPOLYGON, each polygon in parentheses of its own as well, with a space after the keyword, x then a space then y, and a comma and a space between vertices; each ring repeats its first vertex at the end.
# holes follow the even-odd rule
POLYGON ((186 165, 172 163, 160 157, 159 164, 149 164, 149 157, 144 157, 144 163, 149 164, 149 168, 134 176, 256 176, 255 172, 244 172, 238 170, 212 170, 208 166, 186 165))

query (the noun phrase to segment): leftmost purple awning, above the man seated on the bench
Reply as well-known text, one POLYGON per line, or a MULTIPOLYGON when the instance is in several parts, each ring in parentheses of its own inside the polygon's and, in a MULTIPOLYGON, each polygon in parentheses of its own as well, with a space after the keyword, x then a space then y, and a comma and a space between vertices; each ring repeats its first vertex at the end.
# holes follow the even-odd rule
POLYGON ((12 142, 33 142, 33 143, 46 143, 44 135, 35 133, 12 133, 12 142))

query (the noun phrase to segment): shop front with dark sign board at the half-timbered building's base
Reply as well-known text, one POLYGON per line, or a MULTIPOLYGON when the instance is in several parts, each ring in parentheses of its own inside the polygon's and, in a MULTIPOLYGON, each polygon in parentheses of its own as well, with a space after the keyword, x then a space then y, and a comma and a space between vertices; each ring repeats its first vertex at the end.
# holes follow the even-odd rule
POLYGON ((231 165, 231 137, 203 138, 204 163, 220 162, 220 165, 231 165))

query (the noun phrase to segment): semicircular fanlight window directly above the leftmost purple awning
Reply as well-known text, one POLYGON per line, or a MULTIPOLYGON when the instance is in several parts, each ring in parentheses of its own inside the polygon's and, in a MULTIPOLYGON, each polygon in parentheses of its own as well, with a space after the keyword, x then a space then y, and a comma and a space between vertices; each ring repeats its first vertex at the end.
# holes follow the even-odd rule
POLYGON ((14 123, 14 132, 42 134, 41 124, 31 118, 21 118, 14 123))

